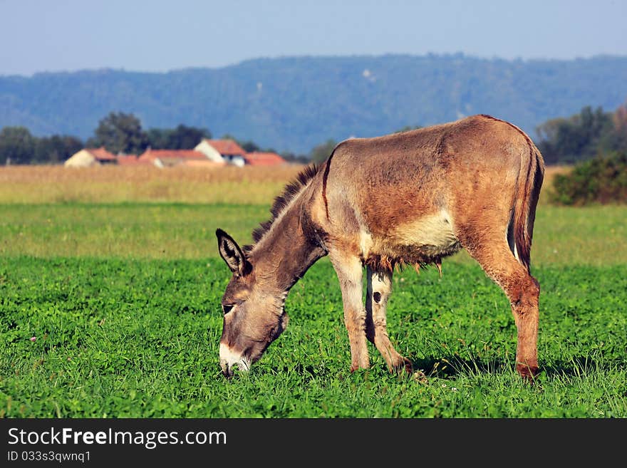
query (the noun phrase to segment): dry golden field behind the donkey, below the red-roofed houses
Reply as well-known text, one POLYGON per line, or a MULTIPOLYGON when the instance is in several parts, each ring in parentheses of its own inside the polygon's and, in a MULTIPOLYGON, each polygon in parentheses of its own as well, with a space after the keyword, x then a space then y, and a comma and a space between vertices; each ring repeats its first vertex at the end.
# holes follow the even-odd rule
MULTIPOLYGON (((0 167, 0 203, 178 202, 270 204, 304 168, 154 166, 0 167)), ((569 167, 547 167, 543 199, 554 175, 569 167)))

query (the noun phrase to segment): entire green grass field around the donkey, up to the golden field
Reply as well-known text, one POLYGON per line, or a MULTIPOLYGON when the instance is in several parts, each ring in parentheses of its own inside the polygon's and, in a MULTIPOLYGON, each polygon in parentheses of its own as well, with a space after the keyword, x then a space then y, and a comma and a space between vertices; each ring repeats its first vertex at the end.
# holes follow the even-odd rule
POLYGON ((463 252, 442 278, 395 275, 390 338, 426 378, 388 373, 373 347, 372 368, 349 372, 321 259, 288 296, 285 333, 227 380, 214 231, 247 243, 269 202, 0 204, 0 415, 627 417, 627 207, 539 207, 534 386, 514 371, 507 299, 463 252))

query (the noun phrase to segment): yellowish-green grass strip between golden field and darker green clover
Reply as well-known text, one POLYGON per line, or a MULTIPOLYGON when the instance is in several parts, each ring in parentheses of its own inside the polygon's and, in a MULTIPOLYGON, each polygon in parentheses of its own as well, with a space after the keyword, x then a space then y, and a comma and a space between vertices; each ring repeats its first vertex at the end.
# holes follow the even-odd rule
MULTIPOLYGON (((217 257, 217 227, 246 244, 252 230, 269 217, 269 202, 0 204, 0 256, 217 257)), ((543 205, 537 212, 532 263, 627 264, 626 219, 627 207, 622 206, 543 205)), ((463 251, 452 261, 474 262, 463 251)))

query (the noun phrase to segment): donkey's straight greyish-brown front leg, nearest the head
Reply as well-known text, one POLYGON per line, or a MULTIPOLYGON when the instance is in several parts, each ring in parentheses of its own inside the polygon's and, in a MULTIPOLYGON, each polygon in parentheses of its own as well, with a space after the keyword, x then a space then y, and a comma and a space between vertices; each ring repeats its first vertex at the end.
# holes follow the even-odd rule
POLYGON ((366 309, 362 301, 363 267, 357 256, 343 252, 329 252, 329 258, 338 274, 344 305, 344 325, 351 343, 351 372, 367 369, 368 347, 366 345, 366 309))

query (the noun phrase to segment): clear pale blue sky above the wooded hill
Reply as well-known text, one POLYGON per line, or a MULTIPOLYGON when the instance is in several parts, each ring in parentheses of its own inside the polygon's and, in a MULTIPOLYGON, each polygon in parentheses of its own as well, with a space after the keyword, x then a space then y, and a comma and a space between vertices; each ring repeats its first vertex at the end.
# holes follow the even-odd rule
POLYGON ((627 1, 0 0, 0 75, 248 58, 627 56, 627 1))

